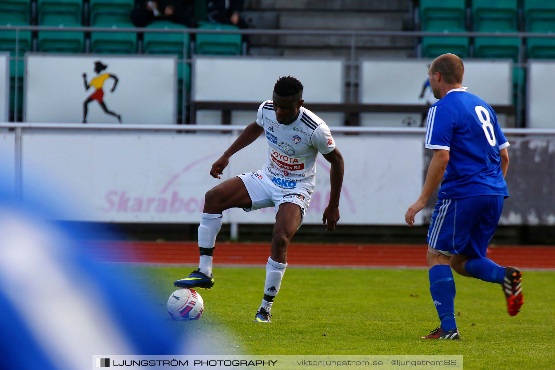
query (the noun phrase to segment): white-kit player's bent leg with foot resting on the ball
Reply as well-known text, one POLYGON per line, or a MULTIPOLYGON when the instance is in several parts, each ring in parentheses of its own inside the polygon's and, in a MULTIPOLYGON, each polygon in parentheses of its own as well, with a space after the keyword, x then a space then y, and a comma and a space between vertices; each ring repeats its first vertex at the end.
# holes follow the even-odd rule
POLYGON ((221 213, 233 207, 250 208, 251 204, 249 192, 246 190, 243 181, 238 177, 226 180, 206 192, 198 232, 199 268, 191 272, 189 276, 176 280, 174 282, 176 287, 211 288, 214 285, 212 256, 216 235, 218 235, 221 227, 221 213))

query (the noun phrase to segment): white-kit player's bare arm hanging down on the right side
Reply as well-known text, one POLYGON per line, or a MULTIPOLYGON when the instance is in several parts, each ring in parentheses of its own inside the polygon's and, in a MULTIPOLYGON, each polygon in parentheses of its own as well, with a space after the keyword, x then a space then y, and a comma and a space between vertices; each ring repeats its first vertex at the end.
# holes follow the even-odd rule
POLYGON ((324 210, 322 222, 327 222, 327 231, 334 231, 337 221, 339 221, 339 197, 341 195, 341 185, 343 184, 343 171, 345 164, 339 149, 335 148, 330 153, 322 154, 331 164, 330 169, 330 202, 324 210))

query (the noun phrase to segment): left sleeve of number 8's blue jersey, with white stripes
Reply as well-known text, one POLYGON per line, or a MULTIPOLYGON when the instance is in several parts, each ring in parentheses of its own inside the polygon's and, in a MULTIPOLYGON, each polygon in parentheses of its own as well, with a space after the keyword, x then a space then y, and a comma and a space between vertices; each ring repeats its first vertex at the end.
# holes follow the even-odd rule
POLYGON ((454 124, 451 112, 447 108, 441 107, 441 105, 434 105, 430 108, 425 148, 451 150, 454 124))

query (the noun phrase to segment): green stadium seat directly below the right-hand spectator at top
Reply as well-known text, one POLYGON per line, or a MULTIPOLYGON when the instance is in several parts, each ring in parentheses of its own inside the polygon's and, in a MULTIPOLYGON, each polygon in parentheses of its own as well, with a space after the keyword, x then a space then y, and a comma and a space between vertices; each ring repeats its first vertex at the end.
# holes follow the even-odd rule
MULTIPOLYGON (((200 22, 198 29, 239 29, 239 27, 231 24, 200 22)), ((197 54, 241 55, 241 35, 197 33, 195 52, 197 54)))

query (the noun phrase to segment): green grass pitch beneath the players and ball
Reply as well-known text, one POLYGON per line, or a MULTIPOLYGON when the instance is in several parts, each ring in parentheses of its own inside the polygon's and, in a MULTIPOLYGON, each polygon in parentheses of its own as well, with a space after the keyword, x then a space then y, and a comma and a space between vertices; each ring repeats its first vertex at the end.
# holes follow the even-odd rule
MULTIPOLYGON (((150 299, 166 316, 173 281, 191 270, 125 268, 154 284, 150 299)), ((193 328, 211 354, 462 354, 465 369, 553 369, 555 272, 524 271, 516 317, 500 285, 453 275, 461 341, 420 339, 440 325, 426 270, 288 268, 272 323, 256 324, 265 269, 216 267, 214 287, 199 290, 200 320, 167 323, 176 338, 193 328)))

